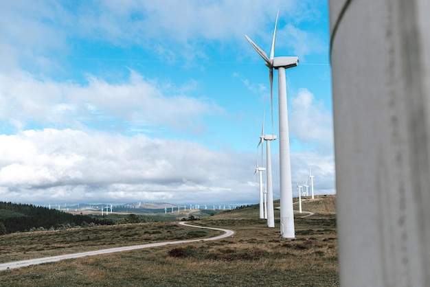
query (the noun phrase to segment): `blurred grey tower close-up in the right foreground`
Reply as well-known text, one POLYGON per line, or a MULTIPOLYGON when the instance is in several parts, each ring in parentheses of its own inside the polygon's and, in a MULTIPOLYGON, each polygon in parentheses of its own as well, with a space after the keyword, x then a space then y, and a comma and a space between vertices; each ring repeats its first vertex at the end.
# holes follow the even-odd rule
POLYGON ((330 0, 341 286, 430 286, 430 1, 330 0))

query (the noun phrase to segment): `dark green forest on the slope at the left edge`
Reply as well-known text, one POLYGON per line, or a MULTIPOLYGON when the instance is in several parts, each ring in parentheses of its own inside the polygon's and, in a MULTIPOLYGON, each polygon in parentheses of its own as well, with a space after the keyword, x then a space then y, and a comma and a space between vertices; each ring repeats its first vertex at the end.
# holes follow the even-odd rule
POLYGON ((0 201, 0 235, 17 231, 55 230, 86 225, 113 225, 110 219, 73 215, 57 209, 0 201))

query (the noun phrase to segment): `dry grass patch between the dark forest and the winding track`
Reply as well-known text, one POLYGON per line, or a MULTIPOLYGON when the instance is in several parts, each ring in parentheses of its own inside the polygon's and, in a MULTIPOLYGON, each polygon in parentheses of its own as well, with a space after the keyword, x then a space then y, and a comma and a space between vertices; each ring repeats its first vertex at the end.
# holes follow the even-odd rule
POLYGON ((220 231, 194 230, 177 222, 137 223, 0 236, 0 263, 152 242, 210 237, 220 231))

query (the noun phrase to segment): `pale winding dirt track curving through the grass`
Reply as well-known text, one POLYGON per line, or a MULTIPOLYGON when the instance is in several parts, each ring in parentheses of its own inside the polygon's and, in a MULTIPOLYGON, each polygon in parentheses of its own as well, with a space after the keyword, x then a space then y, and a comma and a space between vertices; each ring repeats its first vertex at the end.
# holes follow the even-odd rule
POLYGON ((203 239, 199 238, 199 239, 192 239, 192 240, 156 242, 156 243, 150 243, 150 244, 123 246, 123 247, 110 248, 110 249, 87 251, 87 252, 82 252, 82 253, 73 253, 73 254, 65 254, 65 255, 58 255, 58 256, 52 256, 52 257, 43 257, 43 258, 36 258, 36 259, 30 259, 30 260, 21 260, 21 261, 15 261, 15 262, 2 263, 2 264, 0 264, 0 271, 4 271, 4 270, 8 270, 8 269, 14 269, 14 268, 21 268, 24 266, 30 266, 30 265, 36 265, 36 264, 43 264, 43 263, 47 263, 47 262, 56 262, 56 261, 65 260, 65 259, 84 257, 84 256, 93 256, 93 255, 100 255, 100 254, 106 254, 106 253, 130 251, 130 250, 135 250, 135 249, 144 249, 144 248, 164 246, 164 245, 170 245, 170 244, 181 244, 181 243, 189 243, 189 242, 196 242, 196 241, 219 240, 219 239, 227 238, 229 236, 234 235, 234 231, 229 230, 229 229, 214 228, 214 227, 201 227, 201 226, 196 226, 196 225, 189 225, 185 222, 179 222, 179 224, 184 225, 184 226, 188 226, 188 227, 219 230, 219 231, 223 231, 225 233, 221 234, 220 236, 215 236, 215 237, 211 237, 211 238, 203 238, 203 239))

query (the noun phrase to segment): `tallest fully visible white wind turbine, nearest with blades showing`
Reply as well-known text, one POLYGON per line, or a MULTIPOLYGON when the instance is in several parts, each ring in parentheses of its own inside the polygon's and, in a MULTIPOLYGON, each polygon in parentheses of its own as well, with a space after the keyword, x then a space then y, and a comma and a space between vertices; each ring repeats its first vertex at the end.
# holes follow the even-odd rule
MULTIPOLYGON (((269 67, 269 80, 272 97, 273 69, 278 69, 278 93, 279 93, 279 140, 280 140, 280 219, 281 219, 281 237, 294 238, 294 213, 293 213, 293 186, 291 183, 291 159, 290 159, 290 141, 288 135, 288 111, 286 108, 286 80, 285 69, 297 67, 299 58, 293 57, 275 57, 275 38, 276 26, 278 25, 278 15, 276 16, 275 31, 273 32, 273 41, 270 52, 270 58, 267 54, 253 43, 245 35, 252 47, 266 62, 269 67)), ((269 201, 269 198, 268 198, 269 201)), ((269 207, 268 207, 269 208, 269 207)))

